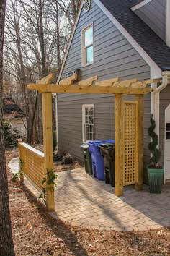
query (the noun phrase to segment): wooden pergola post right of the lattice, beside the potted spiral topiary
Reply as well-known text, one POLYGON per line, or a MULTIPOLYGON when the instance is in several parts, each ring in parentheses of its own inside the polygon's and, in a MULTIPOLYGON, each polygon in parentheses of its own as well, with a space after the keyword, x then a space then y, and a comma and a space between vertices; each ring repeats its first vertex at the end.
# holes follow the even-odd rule
POLYGON ((144 95, 135 95, 138 101, 138 170, 135 180, 135 189, 143 189, 143 116, 144 95))

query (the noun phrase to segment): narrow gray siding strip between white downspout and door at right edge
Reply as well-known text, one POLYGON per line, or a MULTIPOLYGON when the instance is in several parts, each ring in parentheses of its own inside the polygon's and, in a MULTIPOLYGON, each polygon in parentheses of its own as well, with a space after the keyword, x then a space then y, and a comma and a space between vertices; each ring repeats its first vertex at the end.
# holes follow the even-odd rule
POLYGON ((164 163, 164 134, 165 134, 165 109, 170 104, 170 85, 160 93, 160 119, 159 119, 159 149, 161 150, 161 163, 164 163))

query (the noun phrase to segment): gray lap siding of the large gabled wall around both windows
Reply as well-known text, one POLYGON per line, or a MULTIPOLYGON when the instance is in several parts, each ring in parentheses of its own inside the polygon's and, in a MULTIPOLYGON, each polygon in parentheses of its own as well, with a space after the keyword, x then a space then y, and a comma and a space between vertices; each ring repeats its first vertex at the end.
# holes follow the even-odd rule
MULTIPOLYGON (((81 13, 76 33, 66 59, 61 79, 66 72, 79 69, 79 80, 97 75, 99 80, 120 77, 121 80, 138 78, 148 80, 150 67, 130 45, 115 25, 92 2, 89 13, 81 13), (94 64, 81 67, 81 30, 94 22, 94 64)), ((112 95, 59 94, 58 95, 58 143, 61 150, 79 158, 82 143, 82 105, 94 104, 95 140, 114 139, 114 103, 112 95)), ((148 161, 147 129, 151 114, 151 95, 145 98, 145 162, 148 161)))

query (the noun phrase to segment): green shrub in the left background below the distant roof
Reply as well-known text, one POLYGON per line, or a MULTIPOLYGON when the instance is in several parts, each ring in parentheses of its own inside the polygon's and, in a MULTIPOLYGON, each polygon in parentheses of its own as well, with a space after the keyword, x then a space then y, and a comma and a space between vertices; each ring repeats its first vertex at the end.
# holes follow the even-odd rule
POLYGON ((16 127, 12 127, 8 122, 4 122, 4 140, 5 147, 15 147, 18 145, 18 139, 22 138, 22 132, 16 127))

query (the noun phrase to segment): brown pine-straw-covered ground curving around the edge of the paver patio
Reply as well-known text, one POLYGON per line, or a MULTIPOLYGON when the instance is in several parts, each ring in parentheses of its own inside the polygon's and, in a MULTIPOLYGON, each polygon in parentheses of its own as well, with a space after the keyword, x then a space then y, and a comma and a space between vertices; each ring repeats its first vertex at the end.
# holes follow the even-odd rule
MULTIPOLYGON (((17 156, 17 149, 6 150, 7 163, 17 156)), ((170 255, 170 229, 107 232, 71 226, 50 217, 7 171, 16 255, 170 255)))

